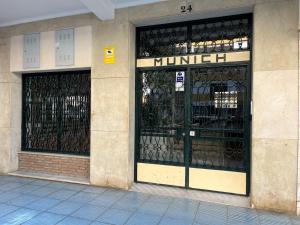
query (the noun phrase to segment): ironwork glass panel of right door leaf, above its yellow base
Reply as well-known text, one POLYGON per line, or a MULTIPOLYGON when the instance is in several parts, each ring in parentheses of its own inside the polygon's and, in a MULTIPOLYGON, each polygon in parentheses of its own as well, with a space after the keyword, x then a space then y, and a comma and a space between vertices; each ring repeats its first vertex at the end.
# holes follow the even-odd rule
POLYGON ((247 74, 244 66, 191 70, 192 166, 246 169, 247 74))

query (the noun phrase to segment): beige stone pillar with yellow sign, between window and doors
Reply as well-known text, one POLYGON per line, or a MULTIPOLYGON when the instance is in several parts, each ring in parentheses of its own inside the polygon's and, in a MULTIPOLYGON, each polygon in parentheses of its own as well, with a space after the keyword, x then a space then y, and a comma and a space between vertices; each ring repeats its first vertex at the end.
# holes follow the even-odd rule
POLYGON ((93 29, 90 174, 94 185, 128 189, 133 182, 133 32, 126 17, 99 21, 93 29), (115 64, 103 62, 107 46, 116 50, 115 64))

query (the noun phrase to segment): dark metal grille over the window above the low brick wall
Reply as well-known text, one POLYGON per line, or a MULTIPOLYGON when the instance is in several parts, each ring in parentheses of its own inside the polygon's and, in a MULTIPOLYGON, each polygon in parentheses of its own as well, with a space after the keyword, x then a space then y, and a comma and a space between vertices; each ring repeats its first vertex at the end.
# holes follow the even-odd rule
POLYGON ((22 150, 89 155, 90 71, 23 76, 22 150))

